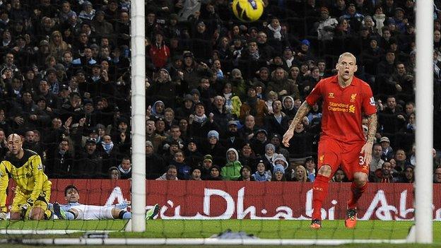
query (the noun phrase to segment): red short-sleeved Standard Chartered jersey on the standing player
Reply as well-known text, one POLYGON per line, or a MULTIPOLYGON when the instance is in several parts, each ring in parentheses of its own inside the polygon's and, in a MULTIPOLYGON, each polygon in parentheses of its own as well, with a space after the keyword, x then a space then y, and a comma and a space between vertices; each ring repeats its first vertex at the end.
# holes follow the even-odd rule
POLYGON ((353 77, 351 85, 341 88, 337 76, 324 78, 307 96, 310 106, 322 99, 322 138, 353 143, 365 141, 362 119, 377 112, 370 86, 359 78, 353 77))

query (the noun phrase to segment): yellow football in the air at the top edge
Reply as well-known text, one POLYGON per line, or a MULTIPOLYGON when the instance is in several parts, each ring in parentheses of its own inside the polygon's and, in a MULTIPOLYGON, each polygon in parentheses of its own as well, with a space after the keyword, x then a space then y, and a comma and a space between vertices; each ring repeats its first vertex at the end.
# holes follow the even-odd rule
POLYGON ((262 0, 234 0, 232 8, 237 19, 246 23, 259 20, 264 13, 262 0))

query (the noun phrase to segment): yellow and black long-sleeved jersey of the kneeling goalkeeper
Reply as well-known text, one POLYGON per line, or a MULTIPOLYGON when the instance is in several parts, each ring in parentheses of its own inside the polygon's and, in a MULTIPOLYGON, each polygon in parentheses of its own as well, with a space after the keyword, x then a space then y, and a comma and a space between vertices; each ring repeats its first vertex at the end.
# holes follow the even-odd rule
POLYGON ((47 184, 48 179, 43 172, 40 155, 32 150, 23 149, 23 151, 24 155, 20 160, 7 156, 0 163, 0 212, 6 212, 6 189, 9 178, 16 182, 16 191, 28 195, 28 199, 33 201, 40 196, 43 185, 47 184))

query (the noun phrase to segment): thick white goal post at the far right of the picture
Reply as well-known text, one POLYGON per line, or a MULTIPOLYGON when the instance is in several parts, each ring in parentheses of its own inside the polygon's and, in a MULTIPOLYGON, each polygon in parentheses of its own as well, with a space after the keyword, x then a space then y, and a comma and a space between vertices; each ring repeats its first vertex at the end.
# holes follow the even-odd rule
POLYGON ((433 1, 416 1, 416 168, 417 243, 433 242, 433 1))

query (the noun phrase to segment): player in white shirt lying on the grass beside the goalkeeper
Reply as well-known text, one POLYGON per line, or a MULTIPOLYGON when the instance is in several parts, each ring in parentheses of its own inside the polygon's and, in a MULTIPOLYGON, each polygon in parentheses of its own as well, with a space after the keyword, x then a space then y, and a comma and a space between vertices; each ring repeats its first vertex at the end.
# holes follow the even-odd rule
MULTIPOLYGON (((115 206, 93 206, 79 203, 80 195, 74 185, 69 185, 64 189, 64 199, 66 205, 54 203, 54 213, 60 219, 66 220, 106 220, 106 219, 130 219, 131 213, 122 210, 127 208, 129 202, 117 204, 115 206)), ((159 205, 155 204, 146 213, 146 219, 151 220, 159 212, 159 205)))

